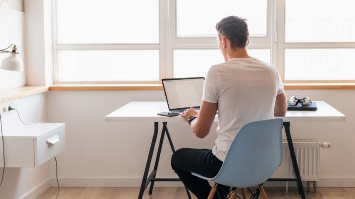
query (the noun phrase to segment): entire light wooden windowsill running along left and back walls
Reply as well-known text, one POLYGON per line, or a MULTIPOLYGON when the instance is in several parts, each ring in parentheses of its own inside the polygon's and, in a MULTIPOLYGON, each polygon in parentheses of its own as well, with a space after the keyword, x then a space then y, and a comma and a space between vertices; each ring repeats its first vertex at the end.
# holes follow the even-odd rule
MULTIPOLYGON (((355 90, 355 83, 285 83, 285 90, 355 90)), ((47 91, 161 91, 161 84, 75 84, 24 86, 0 91, 0 103, 47 91)))

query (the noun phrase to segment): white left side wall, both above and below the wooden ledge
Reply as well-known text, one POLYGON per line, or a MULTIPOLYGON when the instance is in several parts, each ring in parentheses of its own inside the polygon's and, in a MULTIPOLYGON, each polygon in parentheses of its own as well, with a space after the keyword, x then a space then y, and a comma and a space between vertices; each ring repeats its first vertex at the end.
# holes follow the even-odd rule
MULTIPOLYGON (((18 47, 19 56, 24 61, 26 45, 24 41, 24 3, 23 0, 0 0, 0 49, 12 43, 18 47)), ((0 53, 0 63, 9 53, 0 53)), ((26 66, 26 62, 24 62, 26 66)), ((24 72, 0 69, 0 90, 26 85, 24 72)), ((18 110, 24 121, 47 120, 47 95, 45 93, 17 99, 18 110)), ((20 120, 16 113, 2 118, 4 127, 16 126, 20 120)), ((6 141, 5 141, 6 142, 6 141)), ((2 145, 0 144, 0 147, 2 145)), ((5 148, 6 151, 6 148, 5 148)), ((0 155, 2 158, 2 154, 0 155)), ((0 165, 0 176, 2 165, 0 165)), ((36 198, 50 187, 49 164, 36 168, 5 168, 4 182, 0 187, 0 199, 36 198)))

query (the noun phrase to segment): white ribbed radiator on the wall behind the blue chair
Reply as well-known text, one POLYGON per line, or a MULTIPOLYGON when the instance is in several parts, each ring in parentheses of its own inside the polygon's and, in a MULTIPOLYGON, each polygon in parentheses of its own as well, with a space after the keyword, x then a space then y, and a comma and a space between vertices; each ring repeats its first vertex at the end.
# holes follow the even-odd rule
MULTIPOLYGON (((280 167, 271 178, 295 178, 287 140, 283 142, 283 159, 280 167)), ((292 139, 297 164, 302 181, 319 181, 319 154, 321 142, 313 139, 292 139)))

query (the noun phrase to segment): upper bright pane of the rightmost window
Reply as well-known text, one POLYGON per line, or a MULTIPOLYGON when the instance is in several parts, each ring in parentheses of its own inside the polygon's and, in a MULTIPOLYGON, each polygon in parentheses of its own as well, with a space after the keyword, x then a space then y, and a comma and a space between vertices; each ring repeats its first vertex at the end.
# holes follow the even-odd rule
POLYGON ((354 0, 286 0, 286 42, 355 41, 354 0))

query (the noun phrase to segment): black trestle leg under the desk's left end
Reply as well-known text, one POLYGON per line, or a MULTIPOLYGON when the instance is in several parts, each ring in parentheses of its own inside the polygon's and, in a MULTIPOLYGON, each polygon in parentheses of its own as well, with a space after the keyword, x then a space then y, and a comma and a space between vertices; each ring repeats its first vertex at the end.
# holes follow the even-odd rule
MULTIPOLYGON (((157 137, 158 137, 158 122, 154 123, 154 134, 153 134, 152 144, 151 144, 151 148, 149 149, 147 164, 146 164, 146 168, 144 169, 144 174, 143 174, 143 179, 142 179, 142 184, 141 184, 141 189, 139 191, 138 199, 142 199, 144 190, 148 187, 149 183, 151 183, 151 186, 149 188, 148 194, 152 194, 155 181, 169 181, 169 182, 181 181, 179 178, 156 178, 155 177, 157 175, 160 153, 162 152, 165 133, 166 133, 166 137, 168 137, 171 150, 173 151, 173 153, 175 152, 173 141, 171 140, 171 137, 170 137, 170 134, 168 131, 168 127, 166 126, 166 124, 167 124, 166 122, 163 122, 163 130, 162 130, 162 135, 160 136, 157 158, 155 159, 154 169, 148 177, 149 167, 151 166, 154 147, 155 147, 155 143, 157 142, 157 137)), ((185 189, 186 189, 187 196, 189 197, 189 199, 191 199, 189 189, 187 189, 186 187, 185 187, 185 189)))

